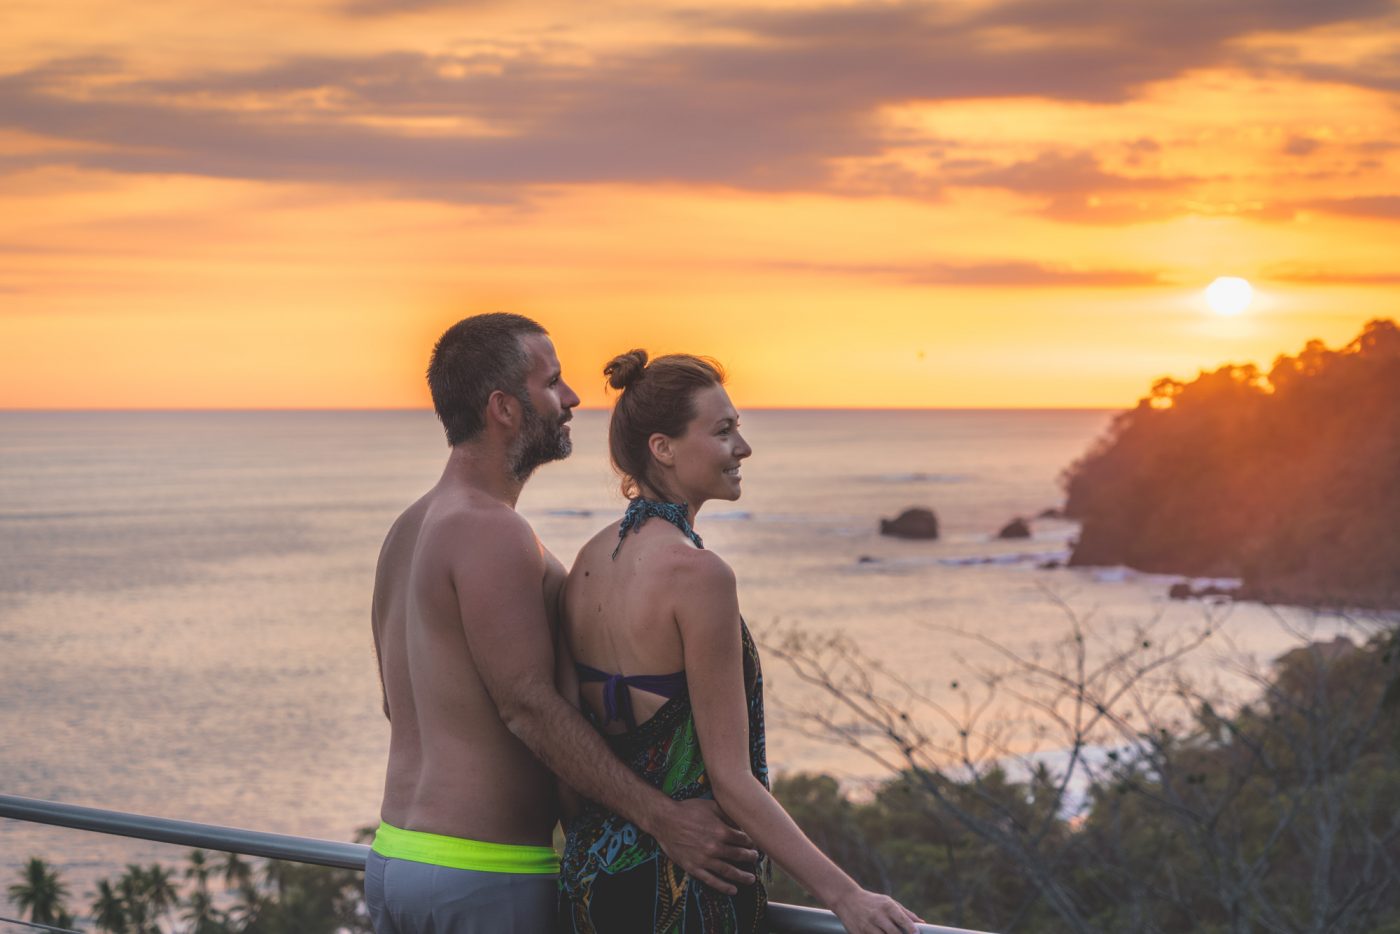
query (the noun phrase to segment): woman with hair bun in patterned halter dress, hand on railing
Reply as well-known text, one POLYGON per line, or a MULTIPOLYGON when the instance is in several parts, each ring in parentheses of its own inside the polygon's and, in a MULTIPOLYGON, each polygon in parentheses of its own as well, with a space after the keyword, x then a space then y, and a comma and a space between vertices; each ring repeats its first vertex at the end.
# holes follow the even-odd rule
POLYGON ((707 501, 739 499, 752 454, 724 371, 701 357, 648 363, 631 350, 603 372, 620 391, 608 445, 629 504, 568 574, 561 676, 577 679, 584 713, 637 774, 676 800, 714 798, 767 856, 752 885, 725 895, 687 877, 631 822, 578 802, 567 808, 561 928, 766 931, 771 857, 848 931, 913 931, 911 912, 860 888, 769 793, 759 657, 734 571, 694 528, 707 501))

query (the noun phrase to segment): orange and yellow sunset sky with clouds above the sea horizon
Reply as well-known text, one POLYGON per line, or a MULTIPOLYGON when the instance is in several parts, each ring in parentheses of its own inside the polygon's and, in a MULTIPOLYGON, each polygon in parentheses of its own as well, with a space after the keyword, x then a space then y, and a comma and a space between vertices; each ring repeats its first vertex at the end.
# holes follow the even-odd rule
POLYGON ((4 0, 0 407, 1126 406, 1400 315, 1400 3, 4 0), (1212 314, 1218 276, 1256 288, 1212 314))

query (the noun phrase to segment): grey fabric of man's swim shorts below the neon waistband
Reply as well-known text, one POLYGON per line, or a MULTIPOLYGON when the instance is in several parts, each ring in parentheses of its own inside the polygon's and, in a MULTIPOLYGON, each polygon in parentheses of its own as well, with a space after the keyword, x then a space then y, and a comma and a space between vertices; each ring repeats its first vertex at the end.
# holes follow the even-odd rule
POLYGON ((546 934, 559 877, 449 870, 371 850, 364 900, 375 934, 546 934))

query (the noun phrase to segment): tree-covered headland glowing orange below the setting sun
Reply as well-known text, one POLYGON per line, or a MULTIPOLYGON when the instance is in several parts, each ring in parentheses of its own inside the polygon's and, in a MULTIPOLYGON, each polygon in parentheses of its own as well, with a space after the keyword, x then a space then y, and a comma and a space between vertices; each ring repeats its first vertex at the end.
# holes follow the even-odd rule
POLYGON ((1400 606, 1400 328, 1266 374, 1159 379, 1061 478, 1071 564, 1240 577, 1278 602, 1400 606))

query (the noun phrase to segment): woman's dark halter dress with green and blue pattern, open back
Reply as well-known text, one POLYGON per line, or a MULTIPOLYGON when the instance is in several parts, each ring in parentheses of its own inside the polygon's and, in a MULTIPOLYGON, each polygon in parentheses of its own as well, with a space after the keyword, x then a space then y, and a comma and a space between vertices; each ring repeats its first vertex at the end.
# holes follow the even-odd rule
MULTIPOLYGON (((689 524, 676 522, 672 515, 648 507, 647 500, 634 500, 627 510, 633 517, 637 504, 647 514, 640 521, 623 521, 622 535, 636 528, 650 515, 661 515, 687 532, 699 545, 699 536, 689 524)), ((683 508, 683 507, 682 507, 683 508)), ((741 620, 743 644, 743 690, 749 709, 749 767, 764 787, 769 784, 767 755, 763 742, 763 674, 757 648, 749 627, 741 620)), ((627 732, 605 734, 608 745, 648 784, 676 801, 713 798, 700 739, 696 735, 690 695, 685 689, 683 674, 652 675, 636 679, 609 676, 580 665, 585 681, 603 681, 606 716, 624 720, 627 732), (678 678, 679 675, 679 678, 678 678), (629 683, 640 690, 652 690, 669 697, 661 709, 641 724, 631 720, 627 703, 629 683), (655 690, 654 690, 655 689, 655 690)), ((584 706, 588 718, 598 727, 594 713, 584 706)), ((724 895, 686 872, 657 844, 655 837, 643 833, 634 823, 585 801, 578 818, 568 826, 564 858, 560 871, 560 930, 574 934, 689 934, 724 933, 749 934, 767 931, 767 892, 763 877, 767 858, 759 857, 753 885, 741 886, 738 895, 724 895)))

